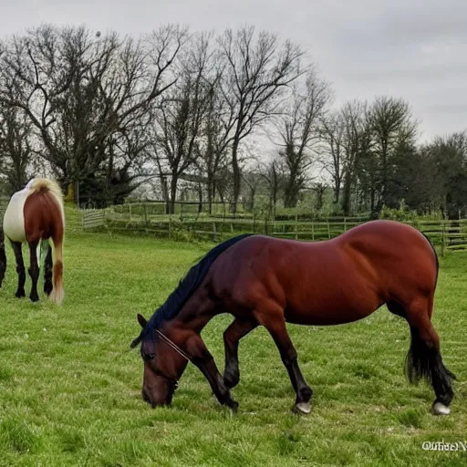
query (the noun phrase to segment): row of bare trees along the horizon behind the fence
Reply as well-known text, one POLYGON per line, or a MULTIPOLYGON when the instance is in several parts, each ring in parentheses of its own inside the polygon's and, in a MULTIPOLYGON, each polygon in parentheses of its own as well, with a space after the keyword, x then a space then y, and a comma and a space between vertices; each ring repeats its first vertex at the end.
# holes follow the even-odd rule
POLYGON ((417 144, 410 104, 379 96, 333 107, 306 50, 254 26, 222 34, 161 26, 140 37, 42 25, 0 41, 0 175, 35 173, 99 206, 157 180, 169 213, 189 181, 200 202, 378 215, 401 200, 459 217, 467 133, 417 144), (254 144, 268 138, 269 160, 254 144))

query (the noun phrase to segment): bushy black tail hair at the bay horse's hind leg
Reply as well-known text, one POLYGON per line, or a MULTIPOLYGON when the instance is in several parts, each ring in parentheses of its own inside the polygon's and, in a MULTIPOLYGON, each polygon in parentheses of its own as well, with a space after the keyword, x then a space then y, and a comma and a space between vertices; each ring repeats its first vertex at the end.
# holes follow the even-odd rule
POLYGON ((456 376, 444 366, 440 350, 430 346, 419 336, 415 327, 410 327, 411 342, 406 359, 406 375, 410 383, 416 384, 420 379, 426 379, 431 383, 438 395, 443 395, 444 403, 451 401, 453 391, 451 379, 456 376))

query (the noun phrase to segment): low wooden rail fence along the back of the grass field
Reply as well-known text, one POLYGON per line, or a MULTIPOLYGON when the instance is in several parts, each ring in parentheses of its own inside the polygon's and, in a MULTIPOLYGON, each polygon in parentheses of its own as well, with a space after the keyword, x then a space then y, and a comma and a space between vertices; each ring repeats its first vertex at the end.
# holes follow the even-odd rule
MULTIPOLYGON (((199 239, 220 242, 239 233, 264 233, 296 240, 327 240, 348 229, 367 222, 362 217, 306 220, 297 214, 295 218, 270 221, 249 218, 222 219, 215 216, 182 219, 179 216, 122 215, 114 210, 89 210, 82 212, 83 229, 105 228, 115 233, 146 233, 174 239, 199 239)), ((424 233, 440 251, 467 250, 467 220, 417 221, 412 223, 424 233)))

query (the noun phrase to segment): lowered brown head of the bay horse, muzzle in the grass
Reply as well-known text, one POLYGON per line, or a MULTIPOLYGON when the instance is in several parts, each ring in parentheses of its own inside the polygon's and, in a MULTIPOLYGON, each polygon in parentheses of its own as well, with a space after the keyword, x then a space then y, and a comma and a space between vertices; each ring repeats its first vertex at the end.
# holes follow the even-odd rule
POLYGON ((173 393, 177 389, 178 379, 186 368, 187 360, 157 336, 145 333, 148 322, 140 314, 138 322, 142 331, 140 336, 131 343, 131 348, 141 342, 140 353, 144 364, 142 399, 152 408, 170 405, 173 393))

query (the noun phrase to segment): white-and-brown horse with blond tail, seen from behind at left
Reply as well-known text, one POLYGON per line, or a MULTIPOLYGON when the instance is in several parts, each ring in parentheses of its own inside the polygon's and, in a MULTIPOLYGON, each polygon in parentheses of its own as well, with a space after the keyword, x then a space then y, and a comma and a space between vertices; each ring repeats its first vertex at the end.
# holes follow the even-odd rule
MULTIPOLYGON (((16 257, 18 287, 16 296, 26 296, 26 272, 23 261, 22 244, 29 245, 29 275, 32 279, 30 299, 36 302, 37 279, 41 241, 50 240, 44 271, 44 292, 50 300, 60 305, 64 298, 63 290, 63 239, 65 234, 65 215, 63 194, 57 182, 48 179, 33 179, 26 188, 16 192, 6 207, 4 233, 9 238, 16 257), (52 284, 52 270, 53 279, 52 284)), ((0 286, 5 276, 5 244, 0 244, 0 286)))

